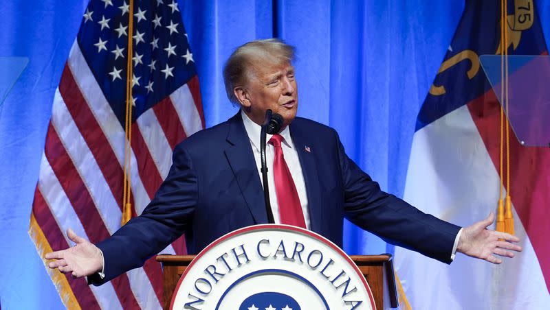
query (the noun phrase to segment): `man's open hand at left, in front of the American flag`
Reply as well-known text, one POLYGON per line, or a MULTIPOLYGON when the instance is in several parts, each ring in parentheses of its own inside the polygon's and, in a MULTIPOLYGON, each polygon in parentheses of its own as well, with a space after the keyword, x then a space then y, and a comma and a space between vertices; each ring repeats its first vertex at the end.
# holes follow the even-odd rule
POLYGON ((89 276, 100 272, 103 268, 103 258, 100 249, 83 237, 78 237, 74 231, 67 229, 67 237, 76 243, 72 248, 47 253, 50 261, 48 267, 58 268, 60 272, 70 272, 74 277, 89 276))

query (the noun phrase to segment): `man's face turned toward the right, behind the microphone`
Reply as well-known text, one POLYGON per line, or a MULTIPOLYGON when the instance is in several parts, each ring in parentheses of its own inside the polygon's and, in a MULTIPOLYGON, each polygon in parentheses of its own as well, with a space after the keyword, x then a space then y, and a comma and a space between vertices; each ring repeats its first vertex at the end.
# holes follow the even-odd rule
POLYGON ((251 69, 245 86, 248 102, 243 104, 246 115, 255 123, 263 124, 265 111, 272 109, 283 119, 283 128, 296 117, 298 110, 298 88, 294 78, 294 67, 288 62, 282 64, 256 64, 251 69))

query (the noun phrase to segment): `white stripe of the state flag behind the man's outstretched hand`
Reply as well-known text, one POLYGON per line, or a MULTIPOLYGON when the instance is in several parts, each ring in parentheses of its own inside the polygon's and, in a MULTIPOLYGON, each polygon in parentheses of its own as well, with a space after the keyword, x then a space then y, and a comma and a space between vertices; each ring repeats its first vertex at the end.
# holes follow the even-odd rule
MULTIPOLYGON (((496 210, 499 184, 467 106, 415 133, 404 194, 412 205, 467 226, 496 210)), ((518 219, 515 211, 514 217, 518 219)), ((462 254, 445 265, 396 248, 395 268, 412 309, 540 309, 550 305, 529 236, 519 220, 515 226, 523 252, 504 259, 501 265, 462 254)))

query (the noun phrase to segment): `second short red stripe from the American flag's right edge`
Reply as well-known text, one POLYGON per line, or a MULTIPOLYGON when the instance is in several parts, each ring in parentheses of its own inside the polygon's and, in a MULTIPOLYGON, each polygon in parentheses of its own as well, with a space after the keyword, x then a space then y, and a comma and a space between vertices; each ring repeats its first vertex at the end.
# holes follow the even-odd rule
POLYGON ((180 143, 187 138, 184 127, 181 126, 179 118, 177 117, 177 110, 175 109, 170 97, 162 99, 158 104, 153 106, 153 111, 157 117, 160 127, 170 144, 170 148, 174 150, 177 143, 180 143))

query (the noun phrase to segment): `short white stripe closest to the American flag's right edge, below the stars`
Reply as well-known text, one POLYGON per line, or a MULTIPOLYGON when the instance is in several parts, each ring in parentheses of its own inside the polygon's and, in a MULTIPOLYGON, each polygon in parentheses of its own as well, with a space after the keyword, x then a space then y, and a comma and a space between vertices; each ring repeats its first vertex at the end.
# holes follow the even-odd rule
POLYGON ((177 111, 179 122, 184 127, 187 136, 202 129, 201 117, 187 84, 171 93, 170 101, 177 111))

